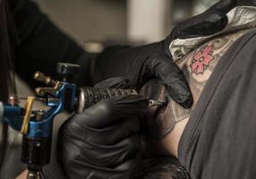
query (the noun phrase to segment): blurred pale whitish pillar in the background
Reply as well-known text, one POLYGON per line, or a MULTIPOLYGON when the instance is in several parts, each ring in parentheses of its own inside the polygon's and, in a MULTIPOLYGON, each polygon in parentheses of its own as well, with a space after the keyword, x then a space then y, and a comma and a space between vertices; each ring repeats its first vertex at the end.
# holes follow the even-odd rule
POLYGON ((172 0, 128 0, 128 38, 155 42, 171 30, 172 0))

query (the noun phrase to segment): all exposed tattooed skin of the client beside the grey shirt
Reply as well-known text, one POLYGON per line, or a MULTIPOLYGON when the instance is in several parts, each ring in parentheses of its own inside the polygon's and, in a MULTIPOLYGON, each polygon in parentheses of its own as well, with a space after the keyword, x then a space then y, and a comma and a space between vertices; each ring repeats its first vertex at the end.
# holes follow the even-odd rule
MULTIPOLYGON (((178 142, 183 133, 183 129, 211 73, 221 59, 221 56, 226 53, 226 50, 231 47, 236 39, 240 38, 247 31, 248 30, 240 30, 232 34, 213 38, 189 55, 175 62, 182 69, 185 78, 190 84, 194 98, 192 108, 185 109, 180 107, 174 100, 168 98, 165 87, 156 80, 149 81, 142 87, 140 93, 145 97, 164 100, 168 103, 166 107, 162 108, 151 107, 147 123, 143 121, 142 124, 145 124, 143 131, 146 133, 148 141, 153 141, 155 145, 155 142, 161 140, 165 152, 177 156, 178 142)), ((150 153, 151 151, 148 149, 152 150, 152 148, 147 148, 147 152, 150 153)))

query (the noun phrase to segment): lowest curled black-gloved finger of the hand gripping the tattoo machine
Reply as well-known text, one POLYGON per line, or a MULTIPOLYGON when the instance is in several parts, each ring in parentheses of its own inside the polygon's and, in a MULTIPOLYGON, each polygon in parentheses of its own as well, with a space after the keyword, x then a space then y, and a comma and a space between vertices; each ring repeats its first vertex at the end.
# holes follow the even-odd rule
POLYGON ((74 140, 70 134, 63 135, 65 140, 62 146, 62 157, 64 165, 72 163, 90 164, 101 167, 115 167, 128 158, 134 158, 140 148, 140 138, 133 135, 125 138, 114 145, 98 145, 90 142, 74 140))

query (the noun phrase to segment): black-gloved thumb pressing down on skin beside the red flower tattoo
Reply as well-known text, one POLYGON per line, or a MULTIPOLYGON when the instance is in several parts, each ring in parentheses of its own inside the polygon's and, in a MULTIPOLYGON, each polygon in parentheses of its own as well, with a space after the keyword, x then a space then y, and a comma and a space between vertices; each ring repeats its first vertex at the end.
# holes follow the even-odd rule
POLYGON ((165 55, 151 55, 149 71, 166 86, 171 98, 185 108, 192 107, 192 93, 179 67, 165 55))

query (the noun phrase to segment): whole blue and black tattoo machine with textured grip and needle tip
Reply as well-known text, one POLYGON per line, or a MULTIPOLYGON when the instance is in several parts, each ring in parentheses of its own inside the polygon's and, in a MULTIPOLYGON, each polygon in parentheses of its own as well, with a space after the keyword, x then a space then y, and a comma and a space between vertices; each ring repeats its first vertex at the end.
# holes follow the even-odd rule
MULTIPOLYGON (((23 134, 21 161, 28 166, 28 179, 40 179, 42 168, 50 162, 53 121, 55 115, 64 110, 81 113, 85 108, 107 98, 126 95, 138 95, 132 89, 82 88, 71 83, 73 73, 80 68, 77 64, 57 64, 56 71, 59 81, 53 80, 42 72, 36 72, 34 79, 44 82, 47 87, 35 90, 37 98, 9 98, 7 104, 0 102, 0 118, 14 130, 23 134), (26 100, 26 105, 20 107, 20 100, 26 100), (45 103, 48 110, 33 110, 34 101, 45 103)), ((149 100, 149 107, 163 106, 162 101, 149 100)))

